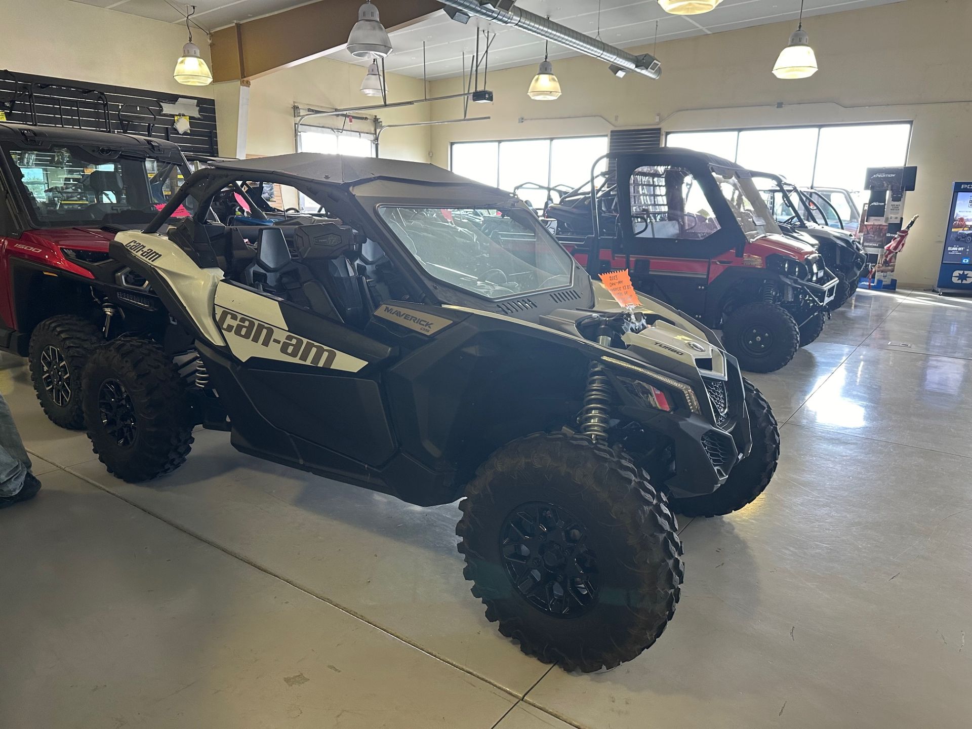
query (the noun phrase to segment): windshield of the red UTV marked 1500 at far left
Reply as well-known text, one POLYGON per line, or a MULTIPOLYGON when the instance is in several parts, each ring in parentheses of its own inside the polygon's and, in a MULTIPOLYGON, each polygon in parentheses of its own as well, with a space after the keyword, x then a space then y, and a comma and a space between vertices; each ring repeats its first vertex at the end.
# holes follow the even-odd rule
MULTIPOLYGON (((41 227, 148 225, 189 175, 181 164, 141 156, 106 160, 71 145, 5 153, 41 227)), ((180 208, 173 217, 186 215, 180 208)))

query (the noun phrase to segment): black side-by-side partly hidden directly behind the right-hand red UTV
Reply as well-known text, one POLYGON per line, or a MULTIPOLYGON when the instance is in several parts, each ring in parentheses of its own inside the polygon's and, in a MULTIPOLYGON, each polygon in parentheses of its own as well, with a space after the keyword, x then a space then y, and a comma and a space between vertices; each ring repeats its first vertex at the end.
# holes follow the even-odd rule
MULTIPOLYGON (((773 217, 785 232, 804 233, 814 241, 827 269, 837 277, 837 292, 828 308, 839 309, 857 291, 860 272, 867 262, 864 246, 847 230, 829 226, 831 216, 824 205, 830 203, 818 197, 815 201, 807 192, 783 180, 780 175, 753 172, 753 179, 766 198, 773 217)), ((833 217, 840 222, 836 211, 833 217)))

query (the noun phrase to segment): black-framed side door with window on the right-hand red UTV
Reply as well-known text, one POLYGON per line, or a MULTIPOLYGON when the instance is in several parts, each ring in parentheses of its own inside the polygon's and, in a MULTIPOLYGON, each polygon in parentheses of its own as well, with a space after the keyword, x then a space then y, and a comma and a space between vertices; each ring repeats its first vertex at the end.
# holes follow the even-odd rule
MULTIPOLYGON (((622 256, 645 293, 679 309, 705 311, 713 260, 735 255, 725 203, 708 169, 651 158, 618 160, 614 256, 622 256)), ((716 263, 717 265, 717 263, 716 263)))

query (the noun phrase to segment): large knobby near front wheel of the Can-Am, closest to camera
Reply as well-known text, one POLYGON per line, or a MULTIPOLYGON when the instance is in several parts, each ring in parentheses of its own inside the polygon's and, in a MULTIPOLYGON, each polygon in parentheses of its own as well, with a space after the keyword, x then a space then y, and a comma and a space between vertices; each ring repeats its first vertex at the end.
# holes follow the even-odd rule
POLYGON ((678 602, 681 543, 665 495, 626 456, 581 435, 528 435, 494 453, 465 496, 464 574, 524 653, 590 672, 661 636, 678 602))

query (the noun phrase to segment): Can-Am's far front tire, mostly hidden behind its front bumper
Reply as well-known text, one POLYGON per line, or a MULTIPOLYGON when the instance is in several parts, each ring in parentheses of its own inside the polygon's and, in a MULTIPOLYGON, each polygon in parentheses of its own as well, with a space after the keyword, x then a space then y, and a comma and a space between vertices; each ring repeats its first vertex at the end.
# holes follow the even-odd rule
POLYGON ((691 499, 672 499, 672 508, 684 516, 729 514, 756 500, 769 486, 780 460, 780 428, 770 403, 743 378, 752 450, 729 472, 729 478, 712 494, 691 499))

